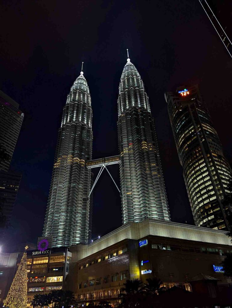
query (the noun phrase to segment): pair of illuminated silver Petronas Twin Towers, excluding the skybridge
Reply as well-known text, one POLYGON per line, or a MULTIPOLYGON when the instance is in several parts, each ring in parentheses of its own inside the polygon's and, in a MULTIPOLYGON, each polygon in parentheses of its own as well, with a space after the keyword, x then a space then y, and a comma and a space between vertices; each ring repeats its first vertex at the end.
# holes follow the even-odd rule
MULTIPOLYGON (((81 71, 63 108, 43 228, 53 247, 86 244, 91 238, 92 136, 91 97, 81 71)), ((169 221, 149 99, 130 59, 119 86, 118 138, 123 224, 146 218, 169 221)))

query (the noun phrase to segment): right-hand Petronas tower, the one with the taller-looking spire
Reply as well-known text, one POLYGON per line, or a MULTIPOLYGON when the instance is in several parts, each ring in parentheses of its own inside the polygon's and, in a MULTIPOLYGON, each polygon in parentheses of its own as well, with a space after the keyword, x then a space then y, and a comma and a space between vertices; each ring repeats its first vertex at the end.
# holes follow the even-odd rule
POLYGON ((119 85, 118 138, 123 222, 170 220, 148 95, 129 58, 119 85))

